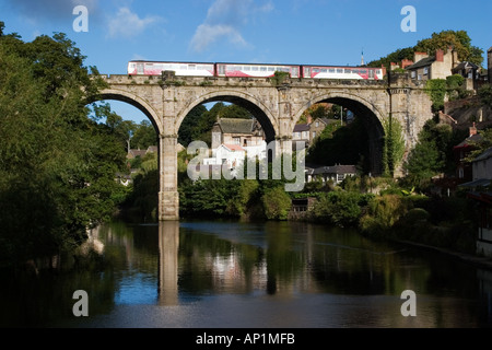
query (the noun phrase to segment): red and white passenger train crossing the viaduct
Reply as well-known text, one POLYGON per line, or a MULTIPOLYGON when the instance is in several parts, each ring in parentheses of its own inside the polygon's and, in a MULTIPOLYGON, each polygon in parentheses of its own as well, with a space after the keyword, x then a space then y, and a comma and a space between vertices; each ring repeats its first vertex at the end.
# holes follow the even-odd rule
POLYGON ((174 71, 177 77, 239 77, 270 78, 276 71, 289 72, 292 78, 382 80, 383 68, 339 66, 294 66, 259 63, 196 63, 130 61, 129 75, 161 75, 174 71))

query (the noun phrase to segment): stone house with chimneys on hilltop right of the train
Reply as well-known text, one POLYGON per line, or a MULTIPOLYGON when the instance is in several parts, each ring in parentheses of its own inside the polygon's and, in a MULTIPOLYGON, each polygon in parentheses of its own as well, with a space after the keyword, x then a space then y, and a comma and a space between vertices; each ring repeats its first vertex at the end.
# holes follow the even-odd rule
POLYGON ((458 52, 449 48, 447 52, 438 49, 435 56, 426 52, 414 52, 413 65, 406 67, 415 80, 446 79, 453 75, 453 69, 458 66, 458 52))

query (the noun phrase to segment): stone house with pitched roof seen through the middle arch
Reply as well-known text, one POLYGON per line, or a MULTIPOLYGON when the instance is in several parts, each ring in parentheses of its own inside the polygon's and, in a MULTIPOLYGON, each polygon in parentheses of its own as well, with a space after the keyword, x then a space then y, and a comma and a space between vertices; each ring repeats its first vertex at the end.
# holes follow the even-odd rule
POLYGON ((212 128, 212 150, 221 144, 257 147, 265 141, 265 132, 256 118, 220 118, 212 128))

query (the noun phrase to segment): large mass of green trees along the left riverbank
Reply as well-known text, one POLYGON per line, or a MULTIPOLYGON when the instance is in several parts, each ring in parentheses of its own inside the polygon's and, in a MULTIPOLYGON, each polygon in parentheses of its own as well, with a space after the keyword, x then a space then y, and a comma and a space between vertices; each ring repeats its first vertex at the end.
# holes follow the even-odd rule
POLYGON ((0 67, 0 256, 14 264, 73 247, 109 218, 126 152, 89 117, 103 84, 65 35, 3 35, 0 67))

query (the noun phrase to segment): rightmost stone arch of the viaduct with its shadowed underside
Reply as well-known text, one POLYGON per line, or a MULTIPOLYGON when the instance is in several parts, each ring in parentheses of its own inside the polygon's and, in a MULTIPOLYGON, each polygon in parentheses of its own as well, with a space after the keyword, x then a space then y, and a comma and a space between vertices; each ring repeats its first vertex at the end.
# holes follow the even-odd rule
POLYGON ((347 92, 329 92, 326 94, 320 94, 311 98, 300 110, 297 110, 294 116, 293 124, 291 125, 292 132, 296 122, 306 109, 317 103, 337 104, 350 109, 356 116, 362 117, 361 119, 364 122, 368 133, 367 147, 370 151, 368 161, 371 163, 371 173, 373 175, 380 175, 383 173, 383 149, 385 138, 383 122, 387 118, 387 116, 382 112, 382 108, 360 95, 347 92))

